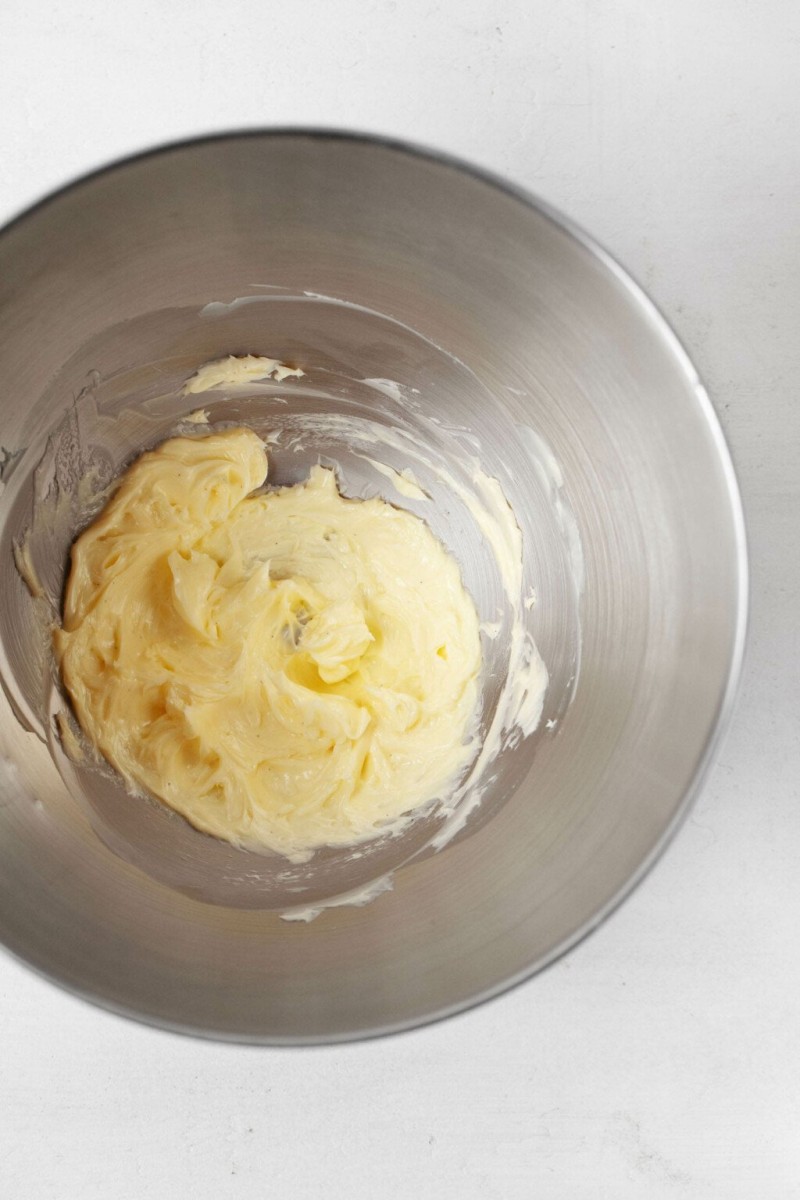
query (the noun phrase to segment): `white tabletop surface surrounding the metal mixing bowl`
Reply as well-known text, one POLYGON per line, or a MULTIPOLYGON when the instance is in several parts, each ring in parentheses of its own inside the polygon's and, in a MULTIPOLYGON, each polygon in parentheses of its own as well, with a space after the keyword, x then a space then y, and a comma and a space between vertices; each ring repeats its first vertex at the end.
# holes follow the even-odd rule
POLYGON ((800 1196, 795 0, 5 0, 0 218, 154 142, 399 134, 537 191, 650 289, 745 497, 734 728, 664 860, 477 1012, 271 1051, 95 1012, 0 956, 0 1194, 800 1196))

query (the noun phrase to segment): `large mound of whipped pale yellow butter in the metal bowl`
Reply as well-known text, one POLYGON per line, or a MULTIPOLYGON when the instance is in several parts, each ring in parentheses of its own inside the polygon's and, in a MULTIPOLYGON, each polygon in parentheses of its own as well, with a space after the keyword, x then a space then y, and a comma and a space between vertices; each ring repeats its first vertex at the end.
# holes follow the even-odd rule
POLYGON ((475 756, 477 613, 419 518, 332 470, 253 494, 246 428, 143 455, 55 634, 89 740, 197 828, 303 862, 402 832, 475 756))

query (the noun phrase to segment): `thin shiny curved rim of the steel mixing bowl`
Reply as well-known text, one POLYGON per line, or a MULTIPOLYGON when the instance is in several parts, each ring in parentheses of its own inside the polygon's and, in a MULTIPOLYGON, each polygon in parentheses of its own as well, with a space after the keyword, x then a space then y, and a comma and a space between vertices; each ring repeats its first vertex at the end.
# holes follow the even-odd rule
POLYGON ((155 146, 152 149, 143 150, 132 155, 127 155, 122 158, 118 158, 104 167, 96 170, 91 170, 84 175, 78 176, 71 182, 66 184, 64 187, 58 188, 55 192, 49 192, 42 199, 35 202, 32 205, 26 206, 19 214, 13 216, 5 226, 0 228, 0 240, 2 236, 13 229, 18 223, 25 221, 28 217, 38 212, 41 209, 47 208, 49 204, 58 200, 60 197, 68 192, 77 191, 86 184, 91 184, 95 179, 103 175, 110 174, 120 168, 132 166, 145 158, 154 158, 160 155, 173 154, 182 149, 190 149, 193 146, 206 145, 215 142, 233 142, 237 139, 264 139, 264 138, 308 138, 309 140, 331 140, 331 142, 349 142, 354 144, 362 145, 377 145, 385 150, 395 151, 398 154, 409 155, 414 158, 422 158, 432 162, 437 166, 446 167, 458 174, 470 175, 473 179, 486 184, 497 191, 504 192, 512 199, 518 200, 524 204, 525 208, 534 209, 543 217, 546 217, 552 224, 554 224, 559 230, 569 234, 579 246, 593 258, 600 262, 608 271, 613 275, 616 282, 627 292, 632 302, 642 311, 644 317, 648 319, 654 331, 663 340, 667 348, 675 356, 680 368, 682 370, 687 383, 690 384, 694 396, 697 398, 698 406, 700 407, 705 420, 708 422, 709 430, 711 432, 720 463, 722 466, 727 491, 728 491, 728 503, 730 506, 730 516, 734 529, 734 538, 736 545, 736 623, 734 629, 734 638, 730 650, 730 660, 728 667, 728 676, 726 679, 726 686, 722 692, 722 698, 717 709, 714 727, 709 740, 705 745, 705 750, 700 756, 692 782, 690 784, 684 800, 678 808, 673 820, 664 829, 663 834, 652 847, 648 857, 639 865, 638 870, 631 876, 631 878, 608 900, 608 902, 594 914, 591 920, 587 922, 583 926, 577 929, 570 937, 565 938, 559 946, 557 946, 548 955, 546 955, 541 961, 533 964, 530 967, 525 967, 523 971, 504 979, 501 983, 493 988, 480 992, 469 1000, 459 1001, 458 1003, 450 1006, 444 1009, 435 1010, 421 1016, 411 1018, 408 1021, 398 1021, 392 1025, 380 1026, 372 1030, 363 1030, 359 1032, 343 1032, 335 1036, 308 1036, 308 1037, 287 1037, 287 1038, 270 1038, 270 1037, 252 1037, 252 1036, 236 1036, 231 1034, 225 1030, 209 1030, 199 1028, 193 1026, 182 1026, 178 1022, 164 1021, 157 1016, 149 1015, 146 1013, 140 1013, 136 1009, 126 1008, 124 1004, 115 1004, 103 997, 100 997, 92 992, 83 991, 79 988, 73 988, 71 984, 65 983, 58 976, 50 974, 36 964, 25 959, 23 955, 16 953, 11 947, 1 944, 6 953, 8 953, 18 962, 24 964, 28 968, 34 971, 40 978, 47 979, 49 983, 55 984, 61 990, 76 996, 79 1000, 86 1001, 96 1008, 101 1008, 107 1013, 112 1013, 115 1016, 124 1018, 126 1020, 136 1021, 139 1025, 145 1025, 150 1028, 158 1030, 166 1033, 178 1033, 184 1037, 200 1038, 207 1042, 224 1042, 231 1045, 245 1045, 245 1046, 270 1046, 272 1049, 285 1049, 285 1048, 319 1048, 319 1046, 337 1046, 342 1044, 348 1044, 353 1042, 371 1042, 378 1038, 393 1036, 397 1033, 408 1033, 415 1030, 420 1030, 425 1026, 435 1025, 439 1021, 450 1019, 452 1016, 465 1015, 471 1009, 477 1008, 481 1004, 486 1004, 489 1001, 498 1000, 500 996, 506 995, 512 989, 521 986, 528 980, 533 979, 534 976, 545 971, 547 967, 553 966, 564 955, 569 954, 570 950, 575 949, 581 942, 584 941, 590 934, 593 934, 600 925, 602 925, 608 917, 626 900, 643 880, 649 875, 652 866, 666 852, 667 847, 674 840, 678 830, 681 828, 688 814, 694 805, 697 797, 705 782, 709 770, 714 763, 717 750, 729 728, 730 719, 733 716, 736 692, 739 689, 739 683, 741 679, 744 656, 745 656, 745 644, 747 636, 747 623, 748 623, 748 565, 747 565, 747 534, 745 526, 745 515, 741 503, 741 493, 739 488, 739 482, 736 479, 736 473, 730 456, 730 450, 726 440, 722 426, 717 413, 711 403, 710 396, 706 388, 704 386, 700 377, 692 362, 688 352, 684 347, 682 342, 673 330, 672 325, 656 306, 656 304, 650 299, 644 288, 621 266, 620 263, 613 257, 613 254, 600 245, 590 234, 588 234, 579 224, 573 222, 571 218, 564 216, 555 208, 549 205, 546 200, 528 192, 525 188, 519 187, 515 184, 509 182, 500 175, 494 174, 491 170, 486 170, 481 167, 475 167, 471 163, 464 162, 455 155, 446 152, 440 152, 431 148, 417 145, 411 142, 405 142, 401 138, 383 137, 380 134, 371 133, 359 133, 350 132, 339 128, 324 128, 324 127, 293 127, 293 126, 279 126, 276 128, 270 127, 246 127, 242 130, 231 130, 227 132, 211 133, 200 137, 181 138, 175 142, 164 143, 163 145, 155 146))

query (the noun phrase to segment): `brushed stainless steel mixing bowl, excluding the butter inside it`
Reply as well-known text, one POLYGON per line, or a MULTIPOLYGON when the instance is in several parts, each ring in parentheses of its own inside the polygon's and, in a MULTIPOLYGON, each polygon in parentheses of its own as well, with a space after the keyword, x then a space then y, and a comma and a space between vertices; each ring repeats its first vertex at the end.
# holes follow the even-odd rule
MULTIPOLYGON (((0 234, 0 937, 35 968, 205 1036, 401 1030, 552 961, 663 848, 739 672, 740 503, 675 337, 547 208, 357 137, 170 146, 72 185, 0 234), (443 461, 477 455, 513 505, 551 671, 545 720, 511 739, 440 852, 426 850, 431 818, 357 860, 325 852, 290 868, 204 838, 61 751, 52 613, 25 589, 14 544, 34 530, 58 602, 80 488, 174 427, 180 382, 229 353, 299 361, 308 376, 291 394, 210 397, 212 420, 279 428, 324 409, 405 422, 443 461), (536 461, 543 444, 563 486, 536 461), (363 907, 281 918, 390 870, 393 889, 363 907)), ((301 478, 321 454, 374 490, 380 476, 354 449, 329 430, 276 452, 273 479, 301 478)), ((425 515, 491 616, 497 578, 480 530, 444 493, 425 515)), ((485 713, 506 650, 487 641, 485 713)))

